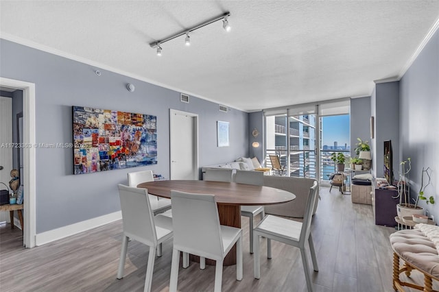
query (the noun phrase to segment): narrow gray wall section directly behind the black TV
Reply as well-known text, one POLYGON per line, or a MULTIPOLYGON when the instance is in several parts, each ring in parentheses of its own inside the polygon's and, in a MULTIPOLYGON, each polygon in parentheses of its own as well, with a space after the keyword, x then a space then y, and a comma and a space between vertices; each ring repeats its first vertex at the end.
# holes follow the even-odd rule
POLYGON ((375 86, 375 145, 372 151, 374 174, 384 177, 384 141, 392 141, 394 177, 399 174, 399 82, 375 86))

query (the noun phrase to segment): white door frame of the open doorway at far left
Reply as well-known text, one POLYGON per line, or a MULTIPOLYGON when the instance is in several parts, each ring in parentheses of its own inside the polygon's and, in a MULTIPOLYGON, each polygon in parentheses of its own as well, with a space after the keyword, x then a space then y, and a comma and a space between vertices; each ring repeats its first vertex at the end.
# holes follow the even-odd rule
POLYGON ((23 90, 23 143, 29 145, 23 148, 23 244, 31 248, 35 246, 36 235, 35 84, 0 77, 0 86, 23 90))

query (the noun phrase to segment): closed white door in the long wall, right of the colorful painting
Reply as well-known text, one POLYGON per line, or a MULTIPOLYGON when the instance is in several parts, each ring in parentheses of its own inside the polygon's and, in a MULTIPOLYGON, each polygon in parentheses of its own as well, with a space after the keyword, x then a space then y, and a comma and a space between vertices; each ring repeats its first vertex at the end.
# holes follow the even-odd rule
POLYGON ((198 115, 169 111, 170 179, 198 180, 198 115))

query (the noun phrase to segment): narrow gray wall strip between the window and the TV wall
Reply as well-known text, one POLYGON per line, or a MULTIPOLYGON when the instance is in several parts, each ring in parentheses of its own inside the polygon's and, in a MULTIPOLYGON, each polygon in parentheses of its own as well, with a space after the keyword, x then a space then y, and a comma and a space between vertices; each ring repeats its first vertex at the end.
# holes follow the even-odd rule
MULTIPOLYGON (((357 138, 370 144, 370 97, 351 99, 351 157, 355 157, 357 138)), ((372 145, 370 146, 372 147, 372 145)))

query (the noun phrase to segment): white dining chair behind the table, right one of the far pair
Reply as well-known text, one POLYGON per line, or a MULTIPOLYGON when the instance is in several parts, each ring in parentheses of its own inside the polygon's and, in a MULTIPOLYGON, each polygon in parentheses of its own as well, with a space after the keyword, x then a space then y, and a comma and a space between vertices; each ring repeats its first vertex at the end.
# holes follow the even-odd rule
MULTIPOLYGON (((235 174, 235 182, 239 184, 263 185, 263 171, 240 171, 235 174)), ((261 220, 265 217, 263 206, 241 206, 241 216, 248 217, 250 221, 250 254, 253 253, 253 218, 261 215, 261 220)))

